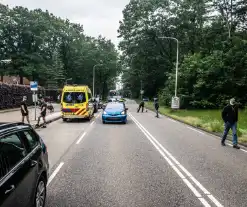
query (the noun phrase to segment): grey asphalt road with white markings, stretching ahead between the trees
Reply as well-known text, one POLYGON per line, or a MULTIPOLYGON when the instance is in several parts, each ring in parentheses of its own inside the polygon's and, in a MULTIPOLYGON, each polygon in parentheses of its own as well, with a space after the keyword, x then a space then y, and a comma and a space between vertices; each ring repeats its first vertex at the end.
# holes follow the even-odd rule
POLYGON ((247 151, 127 103, 126 125, 56 121, 39 129, 48 207, 247 206, 247 151))

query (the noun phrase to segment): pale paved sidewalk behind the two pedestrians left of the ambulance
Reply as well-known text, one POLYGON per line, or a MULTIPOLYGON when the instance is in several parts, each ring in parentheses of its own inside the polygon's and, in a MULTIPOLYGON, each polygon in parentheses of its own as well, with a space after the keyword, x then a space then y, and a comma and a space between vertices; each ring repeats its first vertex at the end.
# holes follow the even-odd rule
MULTIPOLYGON (((52 122, 55 121, 59 118, 61 118, 61 112, 60 112, 60 105, 59 104, 53 104, 54 107, 54 112, 50 113, 49 110, 47 110, 47 115, 46 115, 46 121, 52 122)), ((37 108, 36 111, 36 120, 35 120, 35 109, 34 108, 29 108, 29 119, 30 119, 30 124, 31 125, 35 125, 37 123, 38 120, 38 116, 40 114, 40 109, 37 108)), ((20 122, 21 121, 21 112, 20 109, 18 111, 16 110, 12 110, 9 112, 5 112, 5 113, 0 113, 0 122, 20 122)), ((41 124, 42 124, 41 120, 41 124)), ((25 123, 27 121, 25 120, 25 123)))

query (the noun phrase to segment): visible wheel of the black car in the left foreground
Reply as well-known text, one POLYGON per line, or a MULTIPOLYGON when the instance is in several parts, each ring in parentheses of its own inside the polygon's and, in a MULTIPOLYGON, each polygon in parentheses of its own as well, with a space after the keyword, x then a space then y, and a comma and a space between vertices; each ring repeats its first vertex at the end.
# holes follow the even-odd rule
POLYGON ((46 199, 46 181, 43 176, 40 177, 35 192, 35 207, 44 207, 46 199))

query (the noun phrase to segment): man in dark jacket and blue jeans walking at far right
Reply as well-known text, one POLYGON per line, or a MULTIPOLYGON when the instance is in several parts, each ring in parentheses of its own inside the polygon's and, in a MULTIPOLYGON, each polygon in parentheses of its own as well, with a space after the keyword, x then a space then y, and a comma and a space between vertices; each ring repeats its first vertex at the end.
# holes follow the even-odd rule
POLYGON ((238 104, 235 99, 230 100, 230 104, 225 106, 222 111, 222 119, 225 123, 224 133, 221 139, 221 145, 225 146, 225 140, 230 129, 232 129, 232 143, 233 148, 240 149, 238 146, 238 137, 237 137, 237 122, 238 122, 238 104))

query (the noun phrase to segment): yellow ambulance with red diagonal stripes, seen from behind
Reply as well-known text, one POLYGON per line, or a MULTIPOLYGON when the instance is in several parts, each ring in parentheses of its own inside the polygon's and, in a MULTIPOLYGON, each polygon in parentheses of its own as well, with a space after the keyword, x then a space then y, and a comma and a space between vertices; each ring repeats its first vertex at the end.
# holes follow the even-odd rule
POLYGON ((84 85, 64 86, 61 96, 61 111, 63 121, 93 117, 94 105, 90 88, 84 85))

